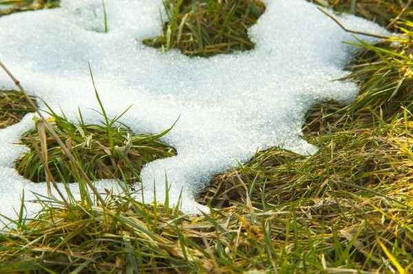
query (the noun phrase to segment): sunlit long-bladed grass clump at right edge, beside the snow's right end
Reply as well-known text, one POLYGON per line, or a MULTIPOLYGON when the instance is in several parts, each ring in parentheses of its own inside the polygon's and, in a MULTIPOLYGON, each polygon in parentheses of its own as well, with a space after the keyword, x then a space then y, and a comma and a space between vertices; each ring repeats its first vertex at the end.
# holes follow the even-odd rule
POLYGON ((361 40, 360 54, 349 77, 363 83, 361 95, 350 106, 352 112, 381 107, 385 117, 400 115, 401 105, 413 111, 413 21, 398 21, 401 34, 377 45, 361 40))

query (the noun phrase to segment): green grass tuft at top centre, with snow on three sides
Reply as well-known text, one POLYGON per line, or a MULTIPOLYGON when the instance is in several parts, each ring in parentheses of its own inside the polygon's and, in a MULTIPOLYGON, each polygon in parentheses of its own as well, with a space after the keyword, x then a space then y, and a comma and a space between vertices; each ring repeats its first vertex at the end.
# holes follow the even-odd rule
POLYGON ((260 0, 166 0, 164 6, 164 34, 142 43, 203 57, 253 49, 247 31, 265 11, 260 0))

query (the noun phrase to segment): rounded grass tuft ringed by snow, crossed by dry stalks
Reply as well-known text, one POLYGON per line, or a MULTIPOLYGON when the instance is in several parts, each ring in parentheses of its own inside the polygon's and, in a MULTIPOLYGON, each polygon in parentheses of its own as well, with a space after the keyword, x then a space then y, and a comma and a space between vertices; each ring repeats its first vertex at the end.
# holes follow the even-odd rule
MULTIPOLYGON (((109 129, 112 136, 112 140, 109 140, 105 125, 86 125, 83 120, 70 123, 65 116, 55 113, 52 113, 52 120, 53 129, 65 141, 91 180, 122 179, 125 176, 128 182, 133 183, 139 179, 140 170, 145 163, 176 155, 173 148, 158 141, 167 131, 158 135, 135 136, 125 125, 119 125, 109 129)), ((112 125, 115 122, 116 118, 110 121, 112 125)), ((41 131, 39 127, 25 132, 19 143, 30 148, 30 152, 15 162, 21 176, 33 182, 46 181, 43 163, 36 154, 31 138, 34 138, 38 147, 41 147, 41 139, 45 139, 47 167, 54 180, 76 182, 70 159, 52 135, 41 131)))

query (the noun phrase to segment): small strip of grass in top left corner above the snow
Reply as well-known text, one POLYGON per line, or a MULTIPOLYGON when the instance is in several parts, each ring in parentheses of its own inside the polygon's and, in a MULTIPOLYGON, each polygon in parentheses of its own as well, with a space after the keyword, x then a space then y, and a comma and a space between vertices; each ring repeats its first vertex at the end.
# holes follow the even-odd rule
POLYGON ((0 10, 0 17, 15 12, 56 8, 59 3, 60 0, 0 0, 0 5, 10 5, 10 8, 0 10))

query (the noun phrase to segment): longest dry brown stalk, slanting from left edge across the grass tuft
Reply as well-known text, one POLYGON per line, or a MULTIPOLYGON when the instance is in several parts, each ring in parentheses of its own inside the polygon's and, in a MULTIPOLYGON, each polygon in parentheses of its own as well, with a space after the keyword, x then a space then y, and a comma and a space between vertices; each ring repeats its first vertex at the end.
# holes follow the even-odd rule
POLYGON ((30 98, 28 93, 25 92, 25 89, 23 89, 23 87, 21 86, 21 84, 17 80, 17 78, 14 78, 13 74, 7 69, 7 67, 5 65, 3 65, 3 63, 1 61, 0 61, 0 67, 2 67, 3 70, 8 74, 8 76, 10 76, 10 78, 12 78, 12 80, 14 81, 14 84, 16 84, 17 87, 19 87, 21 92, 23 92, 25 97, 28 99, 30 105, 32 105, 32 107, 34 109, 36 109, 36 112, 39 115, 39 117, 42 118, 45 121, 45 128, 47 129, 47 131, 49 131, 49 133, 53 136, 54 140, 56 140, 56 142, 59 144, 59 146, 63 149, 63 151, 65 152, 66 156, 70 159, 70 161, 72 161, 74 163, 76 169, 78 169, 78 171, 81 174, 81 176, 83 177, 83 179, 85 179, 85 182, 87 183, 87 185, 90 187, 90 189, 92 189, 93 193, 96 195, 96 198, 98 198, 99 202, 103 205, 103 207, 106 207, 105 200, 103 200, 102 196, 100 196, 100 193, 99 193, 98 189, 96 189, 96 187, 94 187, 91 180, 89 180, 89 178, 87 177, 85 171, 83 171, 83 169, 79 166, 78 162, 76 162, 76 160, 74 159, 74 156, 70 153, 69 149, 67 149, 66 145, 63 143, 61 138, 59 138, 59 136, 57 136, 57 134, 54 131, 54 129, 52 128, 52 126, 50 126, 50 124, 47 123, 47 120, 43 117, 43 115, 41 114, 39 108, 36 106, 36 104, 34 103, 32 98, 30 98))

